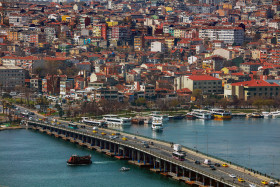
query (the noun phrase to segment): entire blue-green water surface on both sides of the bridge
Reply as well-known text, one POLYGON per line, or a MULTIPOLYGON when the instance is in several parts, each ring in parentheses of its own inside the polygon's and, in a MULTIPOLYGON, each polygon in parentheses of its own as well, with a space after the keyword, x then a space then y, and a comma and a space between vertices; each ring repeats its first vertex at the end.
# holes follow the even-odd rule
MULTIPOLYGON (((280 119, 169 121, 162 133, 150 126, 122 129, 196 148, 280 178, 280 119)), ((0 132, 0 186, 185 186, 70 142, 31 130, 0 132), (92 154, 93 164, 69 167, 71 154, 92 154), (129 172, 119 172, 122 167, 129 172)))

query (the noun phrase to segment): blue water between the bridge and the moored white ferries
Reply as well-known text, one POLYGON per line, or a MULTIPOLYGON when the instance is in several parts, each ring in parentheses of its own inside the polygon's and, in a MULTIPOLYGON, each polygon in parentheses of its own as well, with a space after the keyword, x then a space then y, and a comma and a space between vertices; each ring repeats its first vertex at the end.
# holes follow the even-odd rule
POLYGON ((147 125, 122 130, 197 148, 280 178, 280 119, 172 120, 162 133, 147 125))

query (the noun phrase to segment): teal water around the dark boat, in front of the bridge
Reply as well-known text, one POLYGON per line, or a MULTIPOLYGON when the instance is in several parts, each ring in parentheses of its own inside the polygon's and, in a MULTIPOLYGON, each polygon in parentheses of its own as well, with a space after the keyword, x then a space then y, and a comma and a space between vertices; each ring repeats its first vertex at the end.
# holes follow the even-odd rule
POLYGON ((0 186, 185 186, 70 142, 35 131, 0 132, 0 186), (92 154, 89 166, 67 166, 71 154, 92 154), (122 167, 129 172, 119 172, 122 167))

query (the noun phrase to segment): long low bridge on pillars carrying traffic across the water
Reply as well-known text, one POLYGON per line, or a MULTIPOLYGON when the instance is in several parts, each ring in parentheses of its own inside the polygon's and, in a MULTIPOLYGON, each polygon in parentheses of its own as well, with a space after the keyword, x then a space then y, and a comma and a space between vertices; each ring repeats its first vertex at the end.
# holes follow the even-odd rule
POLYGON ((77 143, 117 159, 128 160, 131 164, 149 168, 153 172, 193 186, 262 186, 262 181, 271 180, 231 163, 226 163, 227 167, 223 167, 225 162, 187 148, 183 148, 186 153, 185 160, 179 161, 172 158, 173 149, 170 143, 143 136, 104 128, 92 131, 92 127, 83 124, 79 124, 78 129, 71 129, 63 123, 53 125, 29 120, 25 124, 28 129, 77 143), (149 146, 143 146, 143 141, 149 142, 149 146), (212 170, 209 165, 203 163, 206 158, 219 163, 221 167, 212 170), (196 164, 195 161, 200 161, 201 164, 196 164), (240 182, 240 178, 244 181, 240 182))

